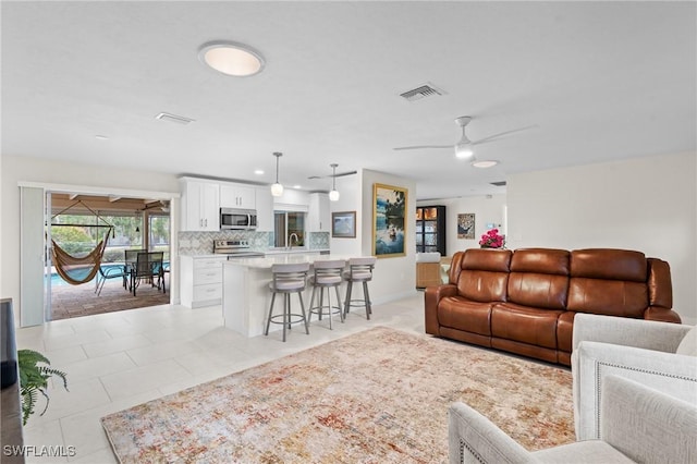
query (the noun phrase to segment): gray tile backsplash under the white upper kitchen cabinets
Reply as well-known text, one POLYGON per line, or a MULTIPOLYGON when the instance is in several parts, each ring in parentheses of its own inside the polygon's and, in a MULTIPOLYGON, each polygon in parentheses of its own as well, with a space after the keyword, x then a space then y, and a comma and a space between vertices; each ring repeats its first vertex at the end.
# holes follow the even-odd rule
MULTIPOLYGON (((308 249, 329 249, 329 232, 308 232, 308 249)), ((246 240, 249 248, 265 252, 273 247, 273 232, 219 231, 180 232, 180 255, 209 255, 213 253, 215 240, 246 240)))

